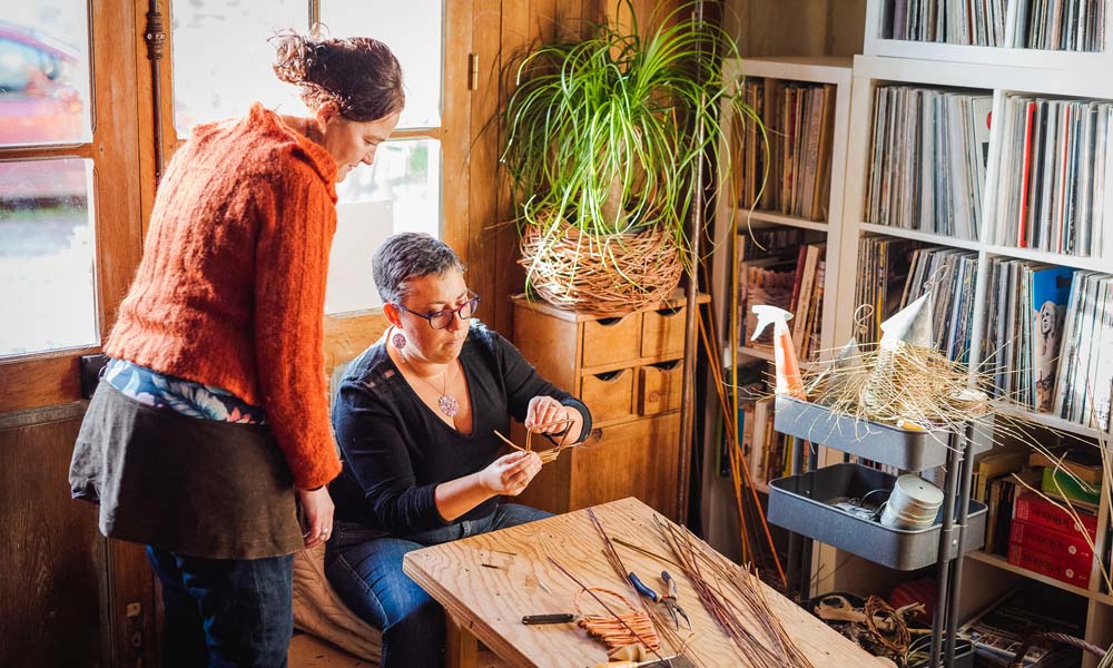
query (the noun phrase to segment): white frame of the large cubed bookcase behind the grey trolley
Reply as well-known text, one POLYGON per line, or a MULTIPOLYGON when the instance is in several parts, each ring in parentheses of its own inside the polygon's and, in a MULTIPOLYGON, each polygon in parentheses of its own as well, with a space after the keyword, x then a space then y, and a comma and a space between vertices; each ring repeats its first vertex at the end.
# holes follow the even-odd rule
MULTIPOLYGON (((893 40, 876 39, 876 30, 873 31, 873 47, 870 47, 870 27, 876 27, 880 0, 870 0, 867 20, 867 49, 874 52, 885 52, 887 56, 908 56, 916 53, 922 58, 939 58, 944 47, 951 45, 915 45, 914 48, 907 42, 900 45, 880 43, 893 40), (933 56, 920 53, 918 49, 928 47, 943 49, 933 56)), ((971 49, 967 47, 966 49, 971 49)), ((1018 49, 997 49, 1002 52, 1011 52, 1016 58, 1014 61, 1028 65, 1025 53, 1018 49)), ((958 53, 958 51, 955 51, 958 53)), ((1041 53, 1046 53, 1041 51, 1041 53)), ((897 84, 915 86, 939 86, 984 90, 993 95, 993 118, 1004 118, 1004 99, 1009 94, 1033 95, 1044 97, 1067 97, 1067 98, 1091 98, 1100 100, 1113 99, 1113 77, 1109 71, 1101 77, 1094 76, 1094 70, 1089 69, 1091 60, 1087 55, 1064 55, 1072 56, 1076 67, 1067 70, 1052 70, 1045 68, 1009 67, 999 65, 991 59, 982 59, 982 62, 949 62, 942 60, 915 60, 912 58, 890 58, 877 56, 859 56, 854 62, 854 84, 851 108, 854 115, 849 125, 846 191, 844 199, 844 212, 839 233, 843 235, 841 256, 839 258, 839 276, 836 308, 838 313, 851 313, 856 307, 855 285, 856 276, 859 273, 858 239, 863 236, 883 235, 890 237, 909 238, 925 242, 932 245, 949 246, 963 248, 977 253, 978 273, 976 292, 973 306, 972 325, 972 351, 971 366, 976 367, 982 358, 981 343, 984 338, 988 323, 986 313, 987 284, 989 281, 988 265, 994 257, 1014 257, 1021 259, 1032 259, 1053 265, 1068 266, 1078 269, 1092 269, 1104 273, 1113 273, 1113 257, 1076 257, 1060 255, 1031 248, 1014 248, 998 246, 992 243, 993 224, 992 198, 995 197, 998 175, 996 174, 996 161, 999 146, 1003 140, 1004 124, 994 122, 989 130, 989 158, 986 170, 986 184, 983 190, 982 210, 986 212, 978 230, 978 238, 964 240, 951 236, 930 234, 918 230, 910 230, 886 225, 875 225, 865 222, 866 208, 865 198, 868 189, 870 175, 870 143, 874 91, 878 86, 897 84)), ((1092 55, 1090 55, 1092 56, 1092 55)), ((955 56, 957 58, 957 56, 955 56)), ((1103 56, 1104 57, 1104 56, 1103 56)), ((1104 234, 1113 235, 1113 224, 1107 219, 1103 227, 1104 234)), ((850 336, 853 323, 850 318, 839 318, 834 324, 834 335, 836 341, 843 341, 850 336)), ((1111 351, 1113 353, 1113 351, 1111 351)), ((1071 432, 1077 435, 1094 439, 1097 432, 1094 429, 1067 422, 1052 414, 1032 413, 1027 410, 1013 405, 998 404, 999 410, 1006 413, 1017 414, 1028 418, 1041 424, 1071 432)), ((1107 438, 1107 436, 1106 436, 1107 438)), ((1106 541, 1111 539, 1109 530, 1110 509, 1103 503, 1099 513, 1099 533, 1095 553, 1105 553, 1106 541)), ((1016 578, 1030 578, 1044 582, 1051 587, 1056 587, 1085 599, 1089 612, 1086 640, 1109 647, 1113 644, 1113 597, 1101 591, 1101 580, 1099 569, 1095 564, 1091 573, 1090 587, 1080 588, 1065 584, 1057 580, 1046 578, 1023 568, 1009 564, 1004 558, 986 553, 975 553, 967 558, 967 568, 972 572, 964 578, 964 582, 969 582, 963 592, 963 603, 961 617, 965 618, 978 606, 984 605, 989 598, 1004 593, 1004 591, 1016 582, 1016 578)), ((836 582, 836 586, 838 582, 836 582)), ((1087 659, 1086 666, 1094 662, 1087 659)))

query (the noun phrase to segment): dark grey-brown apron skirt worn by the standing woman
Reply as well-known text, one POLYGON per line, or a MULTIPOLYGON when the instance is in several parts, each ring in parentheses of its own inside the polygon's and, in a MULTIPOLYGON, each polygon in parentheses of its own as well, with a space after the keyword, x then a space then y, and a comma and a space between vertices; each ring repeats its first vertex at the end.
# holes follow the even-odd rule
POLYGON ((75 499, 100 504, 111 538, 213 559, 303 548, 293 478, 265 425, 155 409, 101 382, 69 480, 75 499))

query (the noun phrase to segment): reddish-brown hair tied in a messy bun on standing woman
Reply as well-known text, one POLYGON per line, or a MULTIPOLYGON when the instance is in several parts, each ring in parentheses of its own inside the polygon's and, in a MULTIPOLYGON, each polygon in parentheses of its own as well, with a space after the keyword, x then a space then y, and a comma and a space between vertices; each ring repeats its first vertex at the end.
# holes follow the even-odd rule
POLYGON ((277 50, 275 73, 302 89, 312 109, 335 102, 341 116, 367 121, 401 111, 402 67, 390 47, 370 37, 314 39, 293 31, 270 42, 277 50))

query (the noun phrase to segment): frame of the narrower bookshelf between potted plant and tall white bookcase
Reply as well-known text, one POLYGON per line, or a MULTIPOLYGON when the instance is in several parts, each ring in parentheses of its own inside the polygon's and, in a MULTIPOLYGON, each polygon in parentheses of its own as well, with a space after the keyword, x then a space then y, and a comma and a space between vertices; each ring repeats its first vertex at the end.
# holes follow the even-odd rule
MULTIPOLYGON (((741 61, 727 60, 723 63, 723 77, 727 81, 737 81, 739 77, 745 76, 749 80, 772 79, 786 84, 828 85, 830 87, 828 90, 834 94, 830 140, 819 153, 823 160, 829 160, 828 173, 830 175, 829 195, 824 198, 820 207, 824 209, 824 216, 805 217, 785 214, 781 210, 750 207, 748 205, 751 203, 742 202, 741 197, 730 195, 736 190, 732 189, 732 180, 729 179, 733 179, 740 169, 745 169, 745 166, 739 165, 738 160, 732 160, 729 169, 723 166, 718 171, 721 183, 720 196, 716 205, 713 227, 716 253, 710 261, 710 279, 715 295, 712 307, 719 327, 718 334, 720 341, 725 342, 722 366, 728 370, 727 382, 730 382, 729 370, 736 364, 765 362, 768 363, 767 366, 771 374, 774 361, 771 348, 756 347, 741 340, 739 340, 736 350, 730 350, 730 323, 737 322, 740 315, 733 312, 731 306, 733 244, 738 234, 750 232, 760 234, 761 230, 770 229, 798 229, 815 237, 816 243, 826 244, 826 252, 821 256, 826 264, 823 279, 823 315, 817 322, 819 337, 815 347, 830 350, 835 345, 833 332, 837 313, 834 295, 839 283, 847 279, 845 276, 839 276, 835 261, 840 256, 839 244, 843 238, 840 233, 845 208, 843 179, 850 122, 851 63, 850 58, 838 57, 747 58, 741 61)), ((728 155, 727 151, 737 146, 738 138, 733 135, 735 124, 729 116, 723 117, 722 127, 723 136, 721 137, 720 150, 721 155, 728 155)), ((801 356, 800 361, 801 364, 807 364, 805 357, 801 356)), ((708 396, 715 396, 715 387, 709 387, 708 396)), ((718 403, 713 401, 711 403, 715 404, 711 410, 718 411, 718 403)), ((770 425, 771 420, 770 412, 770 425)), ((703 508, 707 509, 703 513, 707 522, 703 530, 709 542, 720 551, 737 559, 740 557, 738 507, 733 498, 731 481, 719 475, 715 452, 722 442, 722 435, 717 431, 717 425, 720 422, 718 413, 713 416, 709 415, 706 421, 705 443, 708 443, 709 446, 705 451, 703 466, 702 501, 703 508)), ((756 481, 754 488, 762 494, 768 493, 768 483, 764 480, 756 481)))

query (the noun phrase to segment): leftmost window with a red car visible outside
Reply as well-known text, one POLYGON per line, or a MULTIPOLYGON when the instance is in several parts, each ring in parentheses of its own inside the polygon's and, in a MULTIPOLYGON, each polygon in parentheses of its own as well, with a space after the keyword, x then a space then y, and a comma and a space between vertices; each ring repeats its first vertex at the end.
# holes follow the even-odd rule
POLYGON ((95 160, 78 157, 91 154, 88 12, 42 0, 4 14, 0 150, 24 150, 0 155, 0 357, 96 345, 95 160))

